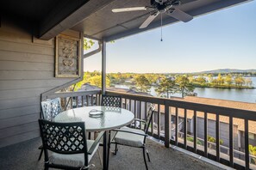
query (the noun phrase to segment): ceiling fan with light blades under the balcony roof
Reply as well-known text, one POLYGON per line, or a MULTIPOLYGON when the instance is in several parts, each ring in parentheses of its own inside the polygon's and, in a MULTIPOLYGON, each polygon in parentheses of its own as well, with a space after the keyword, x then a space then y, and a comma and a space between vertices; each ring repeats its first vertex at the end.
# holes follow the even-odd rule
POLYGON ((192 20, 193 16, 177 8, 184 1, 191 2, 190 0, 150 0, 151 6, 112 9, 112 12, 117 13, 117 12, 128 12, 128 11, 138 11, 138 10, 151 11, 151 15, 149 15, 147 20, 140 25, 140 28, 147 27, 153 21, 153 19, 155 19, 159 14, 161 14, 161 25, 162 25, 163 13, 165 13, 166 15, 170 15, 179 21, 187 22, 192 20))

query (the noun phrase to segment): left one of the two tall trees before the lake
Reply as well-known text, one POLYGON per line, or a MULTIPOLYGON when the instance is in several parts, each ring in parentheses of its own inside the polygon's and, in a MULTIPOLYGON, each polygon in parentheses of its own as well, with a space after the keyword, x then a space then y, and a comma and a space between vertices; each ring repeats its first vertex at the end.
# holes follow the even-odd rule
POLYGON ((159 82, 159 86, 156 88, 156 92, 160 96, 166 96, 167 98, 170 98, 170 94, 174 94, 176 91, 175 81, 172 80, 172 78, 163 78, 159 82))

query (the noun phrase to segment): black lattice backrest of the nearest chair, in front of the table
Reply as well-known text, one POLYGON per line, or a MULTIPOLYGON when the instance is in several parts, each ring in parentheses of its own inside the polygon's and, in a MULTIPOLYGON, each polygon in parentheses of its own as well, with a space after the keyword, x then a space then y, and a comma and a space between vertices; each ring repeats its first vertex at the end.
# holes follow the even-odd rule
POLYGON ((84 122, 57 123, 45 119, 38 120, 43 149, 59 154, 84 153, 84 163, 88 165, 87 142, 84 122))

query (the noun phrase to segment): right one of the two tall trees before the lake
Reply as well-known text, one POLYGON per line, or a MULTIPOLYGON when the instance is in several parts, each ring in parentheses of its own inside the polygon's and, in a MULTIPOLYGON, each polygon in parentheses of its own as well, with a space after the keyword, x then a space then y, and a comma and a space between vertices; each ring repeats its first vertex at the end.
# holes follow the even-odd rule
POLYGON ((192 86, 189 78, 186 75, 177 76, 175 82, 177 85, 178 93, 180 93, 182 97, 190 94, 191 92, 194 92, 195 88, 192 86))

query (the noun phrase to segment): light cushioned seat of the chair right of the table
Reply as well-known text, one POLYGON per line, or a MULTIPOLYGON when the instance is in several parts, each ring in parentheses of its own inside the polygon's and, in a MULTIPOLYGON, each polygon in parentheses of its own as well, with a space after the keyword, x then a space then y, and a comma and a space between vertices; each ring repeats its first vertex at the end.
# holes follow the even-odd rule
MULTIPOLYGON (((122 131, 132 131, 135 133, 140 133, 145 135, 144 131, 138 129, 132 129, 128 127, 122 127, 122 131)), ((144 143, 144 136, 118 131, 115 137, 116 143, 132 146, 132 147, 142 147, 144 143)))

